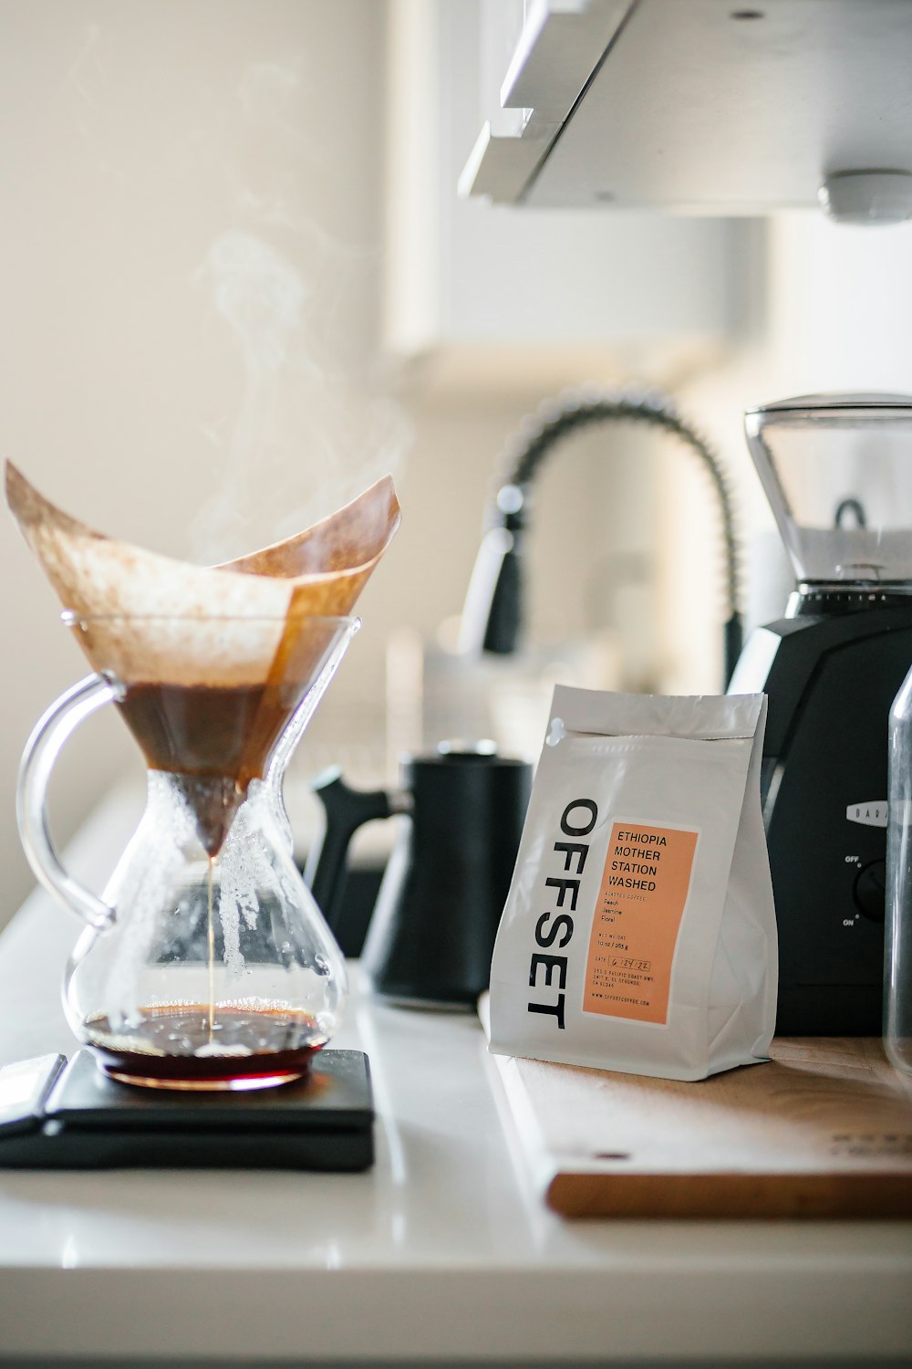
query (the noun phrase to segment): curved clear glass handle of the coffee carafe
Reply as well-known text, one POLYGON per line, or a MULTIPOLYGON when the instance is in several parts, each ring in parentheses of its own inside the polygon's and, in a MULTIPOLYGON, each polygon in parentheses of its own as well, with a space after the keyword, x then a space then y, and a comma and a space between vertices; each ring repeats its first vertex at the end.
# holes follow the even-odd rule
POLYGON ((26 858, 48 893, 104 931, 115 910, 78 883, 60 864, 48 832, 46 797, 51 772, 67 738, 96 709, 118 698, 118 686, 104 675, 88 675, 55 700, 26 742, 16 787, 16 820, 26 858))

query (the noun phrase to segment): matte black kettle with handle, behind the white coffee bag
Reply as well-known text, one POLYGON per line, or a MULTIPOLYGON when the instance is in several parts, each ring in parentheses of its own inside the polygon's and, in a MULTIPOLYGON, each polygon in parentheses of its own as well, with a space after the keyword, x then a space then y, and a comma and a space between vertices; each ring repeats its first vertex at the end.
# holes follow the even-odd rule
POLYGON ((305 880, 332 927, 358 827, 405 815, 361 953, 372 988, 399 1003, 472 1008, 487 987, 510 888, 532 767, 492 745, 443 743, 402 763, 402 787, 356 790, 338 771, 314 783, 323 841, 305 880))

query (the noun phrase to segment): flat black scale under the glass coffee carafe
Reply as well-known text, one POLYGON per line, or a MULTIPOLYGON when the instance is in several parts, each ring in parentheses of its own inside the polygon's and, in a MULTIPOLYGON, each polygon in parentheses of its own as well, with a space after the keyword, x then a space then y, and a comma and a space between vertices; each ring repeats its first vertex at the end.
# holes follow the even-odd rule
POLYGON ((171 1092, 105 1077, 88 1050, 0 1069, 0 1169, 321 1169, 373 1164, 368 1057, 324 1050, 306 1079, 171 1092))

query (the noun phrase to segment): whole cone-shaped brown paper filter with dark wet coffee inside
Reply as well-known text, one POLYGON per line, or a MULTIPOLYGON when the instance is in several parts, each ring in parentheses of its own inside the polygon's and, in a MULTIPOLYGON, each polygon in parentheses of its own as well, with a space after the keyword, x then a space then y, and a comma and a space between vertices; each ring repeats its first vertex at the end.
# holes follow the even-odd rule
POLYGON ((399 523, 390 476, 310 528, 223 565, 116 541, 10 463, 7 500, 153 769, 187 776, 212 854, 399 523))

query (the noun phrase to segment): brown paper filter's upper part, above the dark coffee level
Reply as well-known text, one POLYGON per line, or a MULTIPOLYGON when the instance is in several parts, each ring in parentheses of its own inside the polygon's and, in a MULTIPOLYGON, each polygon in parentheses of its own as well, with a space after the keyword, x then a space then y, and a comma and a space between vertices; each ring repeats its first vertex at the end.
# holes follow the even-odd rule
POLYGON ((319 617, 346 617, 399 524, 390 476, 321 523, 204 567, 105 537, 44 498, 10 461, 7 502, 97 671, 124 683, 254 684, 309 678, 319 617))

